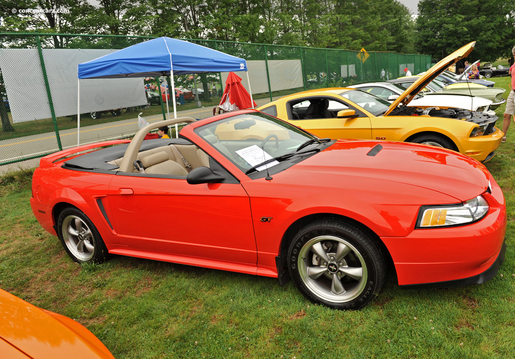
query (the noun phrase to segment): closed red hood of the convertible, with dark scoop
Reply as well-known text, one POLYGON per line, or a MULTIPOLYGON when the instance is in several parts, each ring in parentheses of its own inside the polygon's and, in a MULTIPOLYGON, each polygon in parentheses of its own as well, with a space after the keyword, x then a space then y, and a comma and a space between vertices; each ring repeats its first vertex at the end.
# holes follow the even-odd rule
MULTIPOLYGON (((388 141, 338 140, 289 170, 404 183, 453 197, 456 202, 484 193, 490 177, 485 166, 457 152, 388 141), (379 145, 382 148, 373 155, 379 145)), ((345 178, 340 182, 345 184, 345 178)))

